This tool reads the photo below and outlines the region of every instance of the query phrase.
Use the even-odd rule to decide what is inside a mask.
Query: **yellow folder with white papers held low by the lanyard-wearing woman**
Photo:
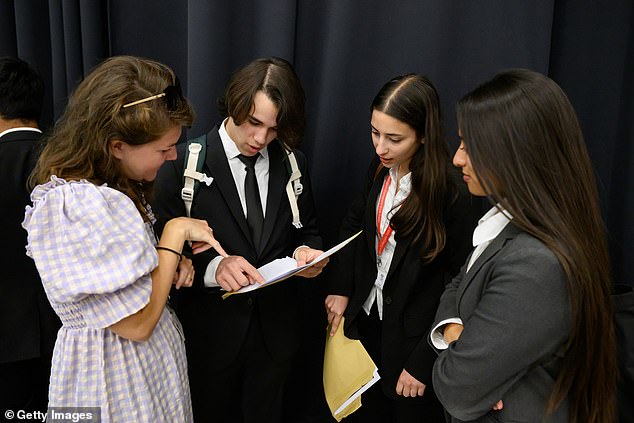
[[[345,337],[343,324],[342,318],[334,336],[327,329],[324,351],[324,393],[338,422],[361,407],[361,394],[380,379],[361,341]]]

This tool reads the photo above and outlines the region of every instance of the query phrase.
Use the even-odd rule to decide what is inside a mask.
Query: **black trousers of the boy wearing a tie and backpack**
[[[213,342],[213,341],[210,341]],[[218,342],[222,348],[222,342]],[[254,313],[238,357],[221,370],[206,363],[189,367],[195,422],[279,423],[291,361],[271,357]]]

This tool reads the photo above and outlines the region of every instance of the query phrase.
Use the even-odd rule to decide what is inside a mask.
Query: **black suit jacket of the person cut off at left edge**
[[[39,151],[40,134],[15,131],[0,138],[0,363],[53,351],[60,322],[44,293],[35,263],[25,253],[24,208],[31,204],[27,179]]]

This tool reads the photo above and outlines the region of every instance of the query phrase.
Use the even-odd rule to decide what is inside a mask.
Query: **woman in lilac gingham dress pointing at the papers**
[[[192,421],[182,330],[166,301],[172,283],[193,282],[185,241],[225,253],[207,222],[189,218],[167,222],[157,243],[145,201],[192,117],[169,68],[114,57],[82,81],[49,136],[23,223],[63,322],[49,408],[97,407],[102,422]]]

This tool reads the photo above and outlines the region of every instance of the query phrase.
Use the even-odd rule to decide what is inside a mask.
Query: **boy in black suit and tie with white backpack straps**
[[[212,182],[200,184],[191,216],[209,222],[230,256],[198,254],[194,288],[179,292],[196,421],[281,420],[283,387],[301,337],[297,282],[226,300],[220,288],[262,282],[256,268],[272,260],[291,256],[302,264],[321,253],[306,159],[294,150],[303,135],[304,102],[288,62],[255,60],[234,74],[221,99],[226,118],[206,136],[201,172]],[[186,147],[179,146],[179,158],[156,180],[153,205],[161,219],[186,214]],[[292,160],[302,177],[287,192]],[[300,275],[315,277],[325,264]]]

